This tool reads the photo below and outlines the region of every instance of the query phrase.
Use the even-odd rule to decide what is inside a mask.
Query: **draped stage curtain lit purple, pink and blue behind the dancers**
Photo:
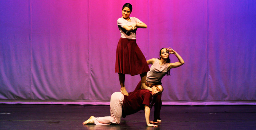
[[[148,25],[145,58],[172,47],[185,61],[162,79],[164,105],[256,105],[254,0],[1,0],[0,103],[109,104],[126,2]],[[125,78],[133,91],[140,76]]]

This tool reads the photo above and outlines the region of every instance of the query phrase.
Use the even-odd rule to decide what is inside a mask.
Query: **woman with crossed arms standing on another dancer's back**
[[[125,3],[122,8],[122,18],[117,20],[121,37],[116,49],[115,72],[119,76],[120,91],[126,96],[128,93],[124,86],[125,74],[131,76],[140,74],[141,87],[145,88],[146,74],[149,71],[147,61],[136,43],[137,28],[147,28],[147,25],[135,17],[130,17],[131,12],[132,5]]]

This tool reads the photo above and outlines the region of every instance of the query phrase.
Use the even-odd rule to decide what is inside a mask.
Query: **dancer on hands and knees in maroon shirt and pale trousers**
[[[107,125],[107,124],[119,124],[121,117],[125,118],[126,115],[136,113],[140,110],[145,111],[146,123],[148,126],[155,126],[153,122],[149,120],[150,107],[154,104],[152,99],[163,92],[161,85],[154,85],[152,91],[146,89],[140,89],[129,93],[129,96],[122,94],[121,92],[115,92],[111,95],[110,99],[110,115],[105,117],[91,116],[83,124],[95,124],[95,125]],[[154,96],[154,97],[153,97]],[[154,99],[153,99],[154,100]]]

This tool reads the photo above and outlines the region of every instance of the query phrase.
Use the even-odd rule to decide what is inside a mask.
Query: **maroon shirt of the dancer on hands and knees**
[[[122,117],[144,110],[145,105],[150,106],[152,97],[152,92],[146,89],[130,92],[129,96],[124,95]]]

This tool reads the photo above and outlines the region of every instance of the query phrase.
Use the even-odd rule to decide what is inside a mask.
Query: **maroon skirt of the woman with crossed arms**
[[[120,38],[116,49],[115,72],[133,76],[148,71],[149,66],[136,39]]]

